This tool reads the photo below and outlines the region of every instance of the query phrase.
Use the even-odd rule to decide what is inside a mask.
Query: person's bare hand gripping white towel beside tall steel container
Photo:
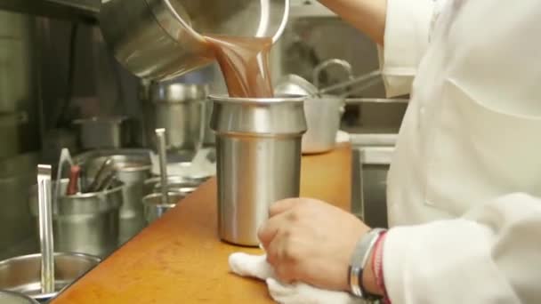
[[[296,281],[349,291],[348,267],[355,244],[369,228],[351,213],[308,198],[271,206],[259,231],[267,260],[282,282]]]

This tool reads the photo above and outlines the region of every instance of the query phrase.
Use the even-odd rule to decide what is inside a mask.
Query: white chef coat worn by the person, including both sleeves
[[[380,60],[393,303],[541,303],[541,1],[388,0]]]

